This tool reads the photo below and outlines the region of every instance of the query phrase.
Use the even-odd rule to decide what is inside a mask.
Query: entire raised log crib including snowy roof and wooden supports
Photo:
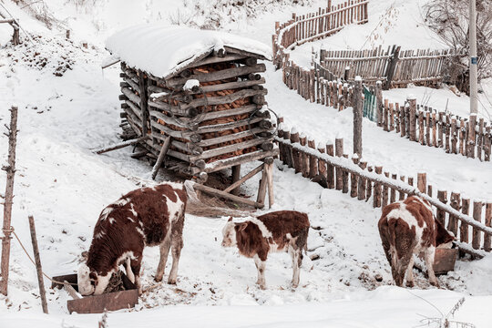
[[[161,166],[200,184],[210,173],[231,168],[229,188],[196,189],[261,208],[268,187],[272,203],[278,149],[261,77],[266,67],[259,62],[271,58],[268,46],[220,32],[150,24],[118,32],[107,48],[121,61],[122,137],[144,148],[142,156],[156,159],[154,179]],[[241,164],[253,160],[263,163],[241,178]],[[234,196],[261,171],[256,201]]]

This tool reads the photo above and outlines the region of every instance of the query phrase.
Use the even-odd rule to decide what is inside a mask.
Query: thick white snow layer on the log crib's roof
[[[224,46],[272,59],[272,49],[259,41],[229,33],[162,23],[125,28],[106,40],[106,48],[130,67],[168,77],[210,50]]]

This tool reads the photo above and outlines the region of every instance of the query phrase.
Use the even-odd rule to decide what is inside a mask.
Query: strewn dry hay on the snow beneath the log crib
[[[186,180],[184,183],[186,193],[188,194],[188,201],[186,205],[186,212],[188,214],[207,218],[217,218],[223,216],[244,218],[256,216],[252,211],[226,208],[224,207],[225,204],[216,198],[202,198],[202,200],[200,200],[193,187],[194,184],[195,182],[191,180]]]

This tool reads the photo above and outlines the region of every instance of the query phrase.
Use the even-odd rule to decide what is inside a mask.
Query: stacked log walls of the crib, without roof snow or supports
[[[259,74],[266,68],[251,54],[232,51],[211,53],[166,79],[122,63],[124,128],[148,136],[146,147],[156,156],[171,138],[174,168],[191,175],[241,164],[246,154],[251,160],[274,155]]]

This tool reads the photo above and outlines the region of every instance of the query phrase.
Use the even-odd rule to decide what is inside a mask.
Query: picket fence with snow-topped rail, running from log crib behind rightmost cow
[[[341,190],[358,200],[372,199],[374,208],[411,195],[422,197],[436,206],[436,219],[455,234],[462,251],[483,257],[486,251],[492,250],[492,202],[461,198],[460,193],[446,190],[437,190],[434,198],[433,187],[427,185],[425,173],[419,173],[415,181],[413,177],[398,177],[384,171],[382,166],[373,167],[357,155],[349,159],[343,152],[343,138],[336,138],[334,145],[331,142],[316,144],[314,139],[308,139],[294,128],[290,130],[281,125],[276,141],[280,160],[302,177],[324,188]],[[471,209],[470,205],[473,205]]]

